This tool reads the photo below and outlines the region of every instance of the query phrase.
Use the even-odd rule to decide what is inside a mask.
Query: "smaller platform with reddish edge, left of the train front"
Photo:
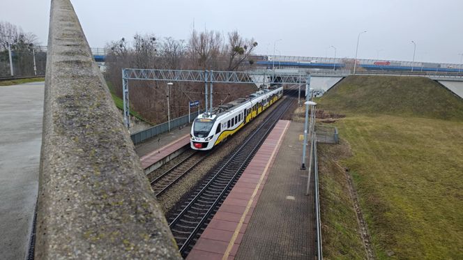
[[[148,174],[183,153],[188,148],[185,148],[188,144],[190,144],[190,125],[153,137],[137,145],[135,151],[140,157],[145,173]]]

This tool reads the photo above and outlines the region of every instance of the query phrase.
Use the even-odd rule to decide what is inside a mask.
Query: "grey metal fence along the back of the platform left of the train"
[[[200,113],[200,112],[199,112]],[[193,121],[196,116],[198,115],[198,112],[191,113],[191,121]],[[188,125],[188,114],[185,116],[180,116],[177,118],[174,118],[170,121],[170,129],[174,128],[179,128],[183,125]],[[155,137],[156,135],[160,135],[163,132],[168,132],[169,131],[169,122],[164,122],[160,123],[159,125],[155,125],[152,128],[148,128],[143,131],[135,132],[134,134],[130,135],[130,138],[132,138],[133,144],[139,144],[142,143],[150,138]]]

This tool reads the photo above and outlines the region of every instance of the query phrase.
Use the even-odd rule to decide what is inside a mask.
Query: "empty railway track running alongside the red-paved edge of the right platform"
[[[188,255],[206,224],[225,200],[273,126],[291,106],[291,102],[295,100],[293,98],[282,100],[282,103],[245,139],[241,146],[211,170],[195,194],[186,199],[179,213],[169,220],[169,227],[183,257]]]

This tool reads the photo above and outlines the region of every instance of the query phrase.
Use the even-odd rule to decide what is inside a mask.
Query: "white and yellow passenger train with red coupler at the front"
[[[212,109],[211,113],[199,114],[190,132],[191,148],[211,150],[273,105],[282,95],[282,86],[276,86],[252,93],[249,98],[238,98],[220,105]]]

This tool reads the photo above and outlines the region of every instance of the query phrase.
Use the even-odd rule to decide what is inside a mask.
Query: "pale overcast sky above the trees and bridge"
[[[36,33],[47,44],[49,0],[0,0],[0,20]],[[135,32],[187,39],[197,30],[238,30],[259,43],[258,54],[460,63],[462,0],[193,1],[73,0],[91,47]]]

